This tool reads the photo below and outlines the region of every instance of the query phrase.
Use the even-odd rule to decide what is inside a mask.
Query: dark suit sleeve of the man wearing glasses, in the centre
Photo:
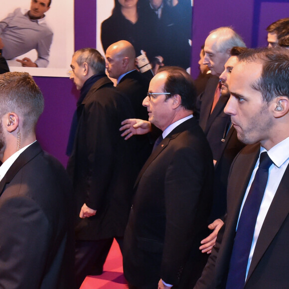
[[[161,278],[168,284],[177,285],[200,227],[206,228],[206,224],[199,224],[196,220],[200,216],[199,200],[203,198],[201,194],[209,173],[207,167],[210,163],[206,164],[202,153],[183,147],[174,152],[166,173],[166,227]]]

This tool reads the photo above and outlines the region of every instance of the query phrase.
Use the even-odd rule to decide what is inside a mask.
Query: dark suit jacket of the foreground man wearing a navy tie
[[[246,146],[235,158],[228,182],[228,214],[196,289],[225,288],[242,201],[260,152]],[[271,203],[254,250],[245,289],[288,288],[289,167]]]

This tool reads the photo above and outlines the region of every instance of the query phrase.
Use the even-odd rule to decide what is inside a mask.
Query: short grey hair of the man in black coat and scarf
[[[76,56],[78,65],[86,62],[95,74],[105,73],[105,59],[98,50],[94,48],[82,48],[75,51],[73,56]]]

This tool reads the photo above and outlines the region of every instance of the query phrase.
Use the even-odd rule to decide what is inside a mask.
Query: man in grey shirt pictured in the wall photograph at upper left
[[[32,49],[37,59],[17,59],[24,67],[47,67],[53,32],[45,21],[51,0],[31,0],[30,10],[16,8],[0,21],[0,49],[5,59],[12,59]]]

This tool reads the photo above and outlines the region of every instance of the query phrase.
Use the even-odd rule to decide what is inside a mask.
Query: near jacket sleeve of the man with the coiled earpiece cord
[[[48,220],[32,199],[13,197],[1,203],[0,288],[39,288],[50,235]]]

